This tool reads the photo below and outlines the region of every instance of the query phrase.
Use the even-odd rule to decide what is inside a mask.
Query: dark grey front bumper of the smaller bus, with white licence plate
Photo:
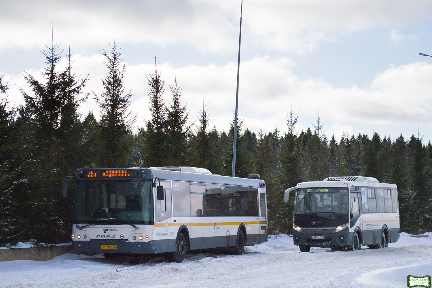
[[[324,236],[324,239],[314,239]],[[292,230],[292,238],[294,240],[294,245],[308,245],[311,247],[332,247],[332,246],[348,246],[350,245],[349,231],[344,229],[339,232],[334,232],[330,234],[307,234],[300,233],[296,230]]]

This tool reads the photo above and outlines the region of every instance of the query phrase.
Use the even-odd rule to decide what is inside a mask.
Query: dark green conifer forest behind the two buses
[[[143,75],[151,118],[133,133],[137,116],[126,112],[132,91],[124,86],[118,44],[101,51],[106,76],[99,94],[83,93],[89,75],[73,72],[70,53],[66,69],[58,69],[59,51],[54,44],[42,50],[43,81],[25,73],[31,92],[20,89],[24,100],[18,107],[8,108],[10,83],[0,75],[1,246],[69,242],[74,185],[66,198],[60,189],[63,177],[79,168],[193,166],[231,176],[234,117],[229,130],[212,126],[205,106],[199,119],[189,119],[181,83],[167,85],[155,64]],[[88,98],[96,99],[100,119],[77,112]],[[360,133],[335,139],[323,133],[319,113],[306,131],[296,126],[298,111],[287,107],[286,113],[286,133],[275,128],[256,134],[242,127],[241,117],[238,123],[235,176],[260,174],[265,180],[269,234],[292,233],[293,195],[288,204],[283,201],[287,188],[355,175],[397,184],[401,232],[432,231],[432,144],[419,129],[396,138]]]

